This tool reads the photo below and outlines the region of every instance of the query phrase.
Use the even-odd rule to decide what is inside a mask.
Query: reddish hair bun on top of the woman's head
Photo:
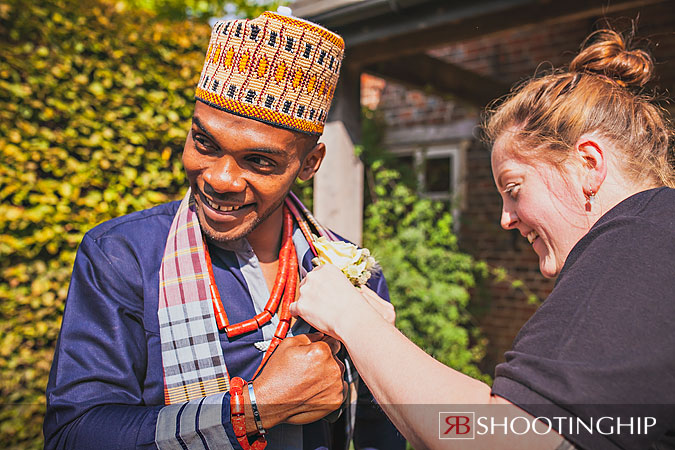
[[[604,75],[622,86],[644,86],[652,77],[651,56],[644,50],[628,49],[616,31],[595,31],[581,48],[570,64],[570,72]]]

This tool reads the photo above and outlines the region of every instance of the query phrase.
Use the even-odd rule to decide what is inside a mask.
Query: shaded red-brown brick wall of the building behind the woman
[[[652,87],[675,92],[675,33],[672,31],[675,8],[665,3],[640,11],[625,11],[611,20],[619,30],[627,30],[630,19],[638,13],[638,35],[652,42],[650,49],[657,60],[657,79]],[[602,23],[598,19],[584,19],[533,26],[461,42],[429,54],[513,84],[532,76],[536,70],[568,64],[585,36]],[[382,111],[388,127],[399,132],[422,125],[451,127],[467,118],[478,122],[481,112],[451,98],[426,95],[369,75],[362,78],[362,98],[367,106]],[[492,266],[506,268],[544,299],[554,281],[539,273],[536,254],[517,231],[501,229],[501,200],[494,187],[489,153],[475,137],[471,139],[465,173],[467,196],[459,231],[461,245]],[[492,283],[487,287],[487,295],[477,291],[473,301],[476,310],[482,310],[478,319],[490,342],[483,368],[491,372],[496,363],[503,361],[504,352],[511,347],[518,330],[536,306],[529,304],[527,295],[512,289],[508,282]]]

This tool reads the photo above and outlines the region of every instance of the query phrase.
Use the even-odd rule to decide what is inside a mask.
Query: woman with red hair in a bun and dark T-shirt
[[[438,414],[453,410],[509,425],[483,422],[470,448],[675,442],[673,139],[643,93],[652,70],[646,52],[600,30],[568,70],[522,84],[490,113],[501,225],[530,242],[544,276],[557,277],[492,387],[426,355],[393,326],[389,304],[336,269],[322,266],[305,280],[294,313],[344,343],[416,448],[442,447],[439,434],[468,426],[467,418],[439,429]]]

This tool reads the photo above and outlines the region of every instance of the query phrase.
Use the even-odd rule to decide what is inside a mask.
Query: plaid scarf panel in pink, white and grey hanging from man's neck
[[[230,378],[213,314],[202,231],[189,189],[166,240],[157,315],[165,404],[228,391]]]

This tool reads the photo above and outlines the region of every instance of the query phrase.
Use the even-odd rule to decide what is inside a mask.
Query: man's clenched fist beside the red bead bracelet
[[[344,364],[335,357],[340,346],[323,333],[289,337],[279,344],[253,382],[265,428],[315,422],[342,405],[347,383]]]

